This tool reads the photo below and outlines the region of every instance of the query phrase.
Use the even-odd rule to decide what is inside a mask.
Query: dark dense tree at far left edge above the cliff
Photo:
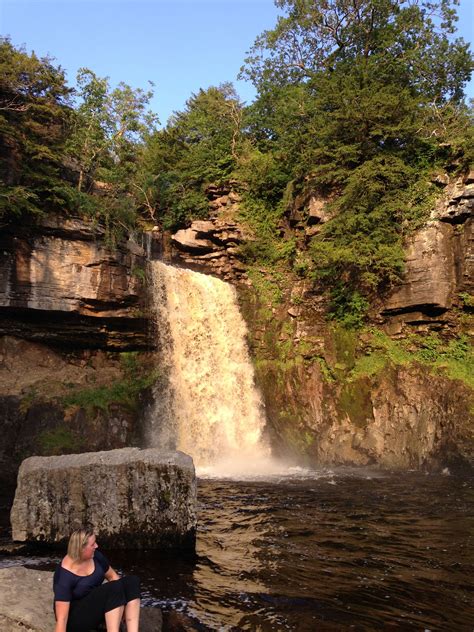
[[[61,176],[71,89],[50,58],[0,41],[0,217],[41,214],[70,203]]]

